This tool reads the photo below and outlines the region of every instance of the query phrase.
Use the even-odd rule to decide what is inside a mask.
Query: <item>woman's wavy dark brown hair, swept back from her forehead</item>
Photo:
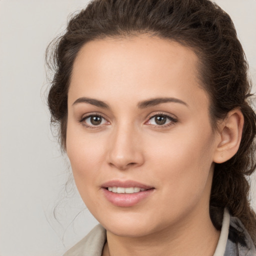
[[[215,164],[210,215],[220,228],[218,209],[227,207],[256,243],[256,216],[250,208],[246,179],[255,168],[256,117],[247,102],[251,84],[247,62],[227,13],[209,0],[93,0],[68,22],[64,35],[53,42],[54,77],[48,94],[52,123],[59,124],[65,148],[67,91],[72,65],[82,45],[105,37],[150,33],[192,48],[199,58],[200,80],[210,96],[213,128],[228,111],[239,108],[244,116],[237,153]]]

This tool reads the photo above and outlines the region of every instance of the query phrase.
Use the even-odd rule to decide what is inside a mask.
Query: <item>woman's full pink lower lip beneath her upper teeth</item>
[[[137,193],[113,193],[105,188],[102,188],[106,199],[112,204],[119,207],[130,207],[148,197],[152,192],[153,188]]]

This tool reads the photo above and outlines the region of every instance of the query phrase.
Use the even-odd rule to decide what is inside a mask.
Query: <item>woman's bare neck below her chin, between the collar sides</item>
[[[107,231],[102,255],[212,256],[220,232],[213,226],[208,212],[194,212],[178,224],[140,237],[117,236]]]

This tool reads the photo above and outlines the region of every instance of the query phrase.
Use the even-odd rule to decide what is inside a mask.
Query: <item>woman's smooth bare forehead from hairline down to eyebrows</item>
[[[197,64],[190,48],[155,36],[90,41],[74,61],[68,97],[75,100],[81,93],[103,100],[106,95],[116,100],[127,93],[133,100],[166,93],[192,96],[202,93]]]

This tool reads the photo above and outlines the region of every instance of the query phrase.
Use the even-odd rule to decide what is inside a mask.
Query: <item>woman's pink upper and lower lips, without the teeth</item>
[[[147,189],[145,191],[139,191],[137,193],[113,193],[107,190],[109,186],[120,186],[120,187],[140,187]],[[154,187],[142,184],[133,180],[111,180],[101,185],[101,190],[105,198],[115,206],[119,207],[131,207],[144,199],[154,191]]]

